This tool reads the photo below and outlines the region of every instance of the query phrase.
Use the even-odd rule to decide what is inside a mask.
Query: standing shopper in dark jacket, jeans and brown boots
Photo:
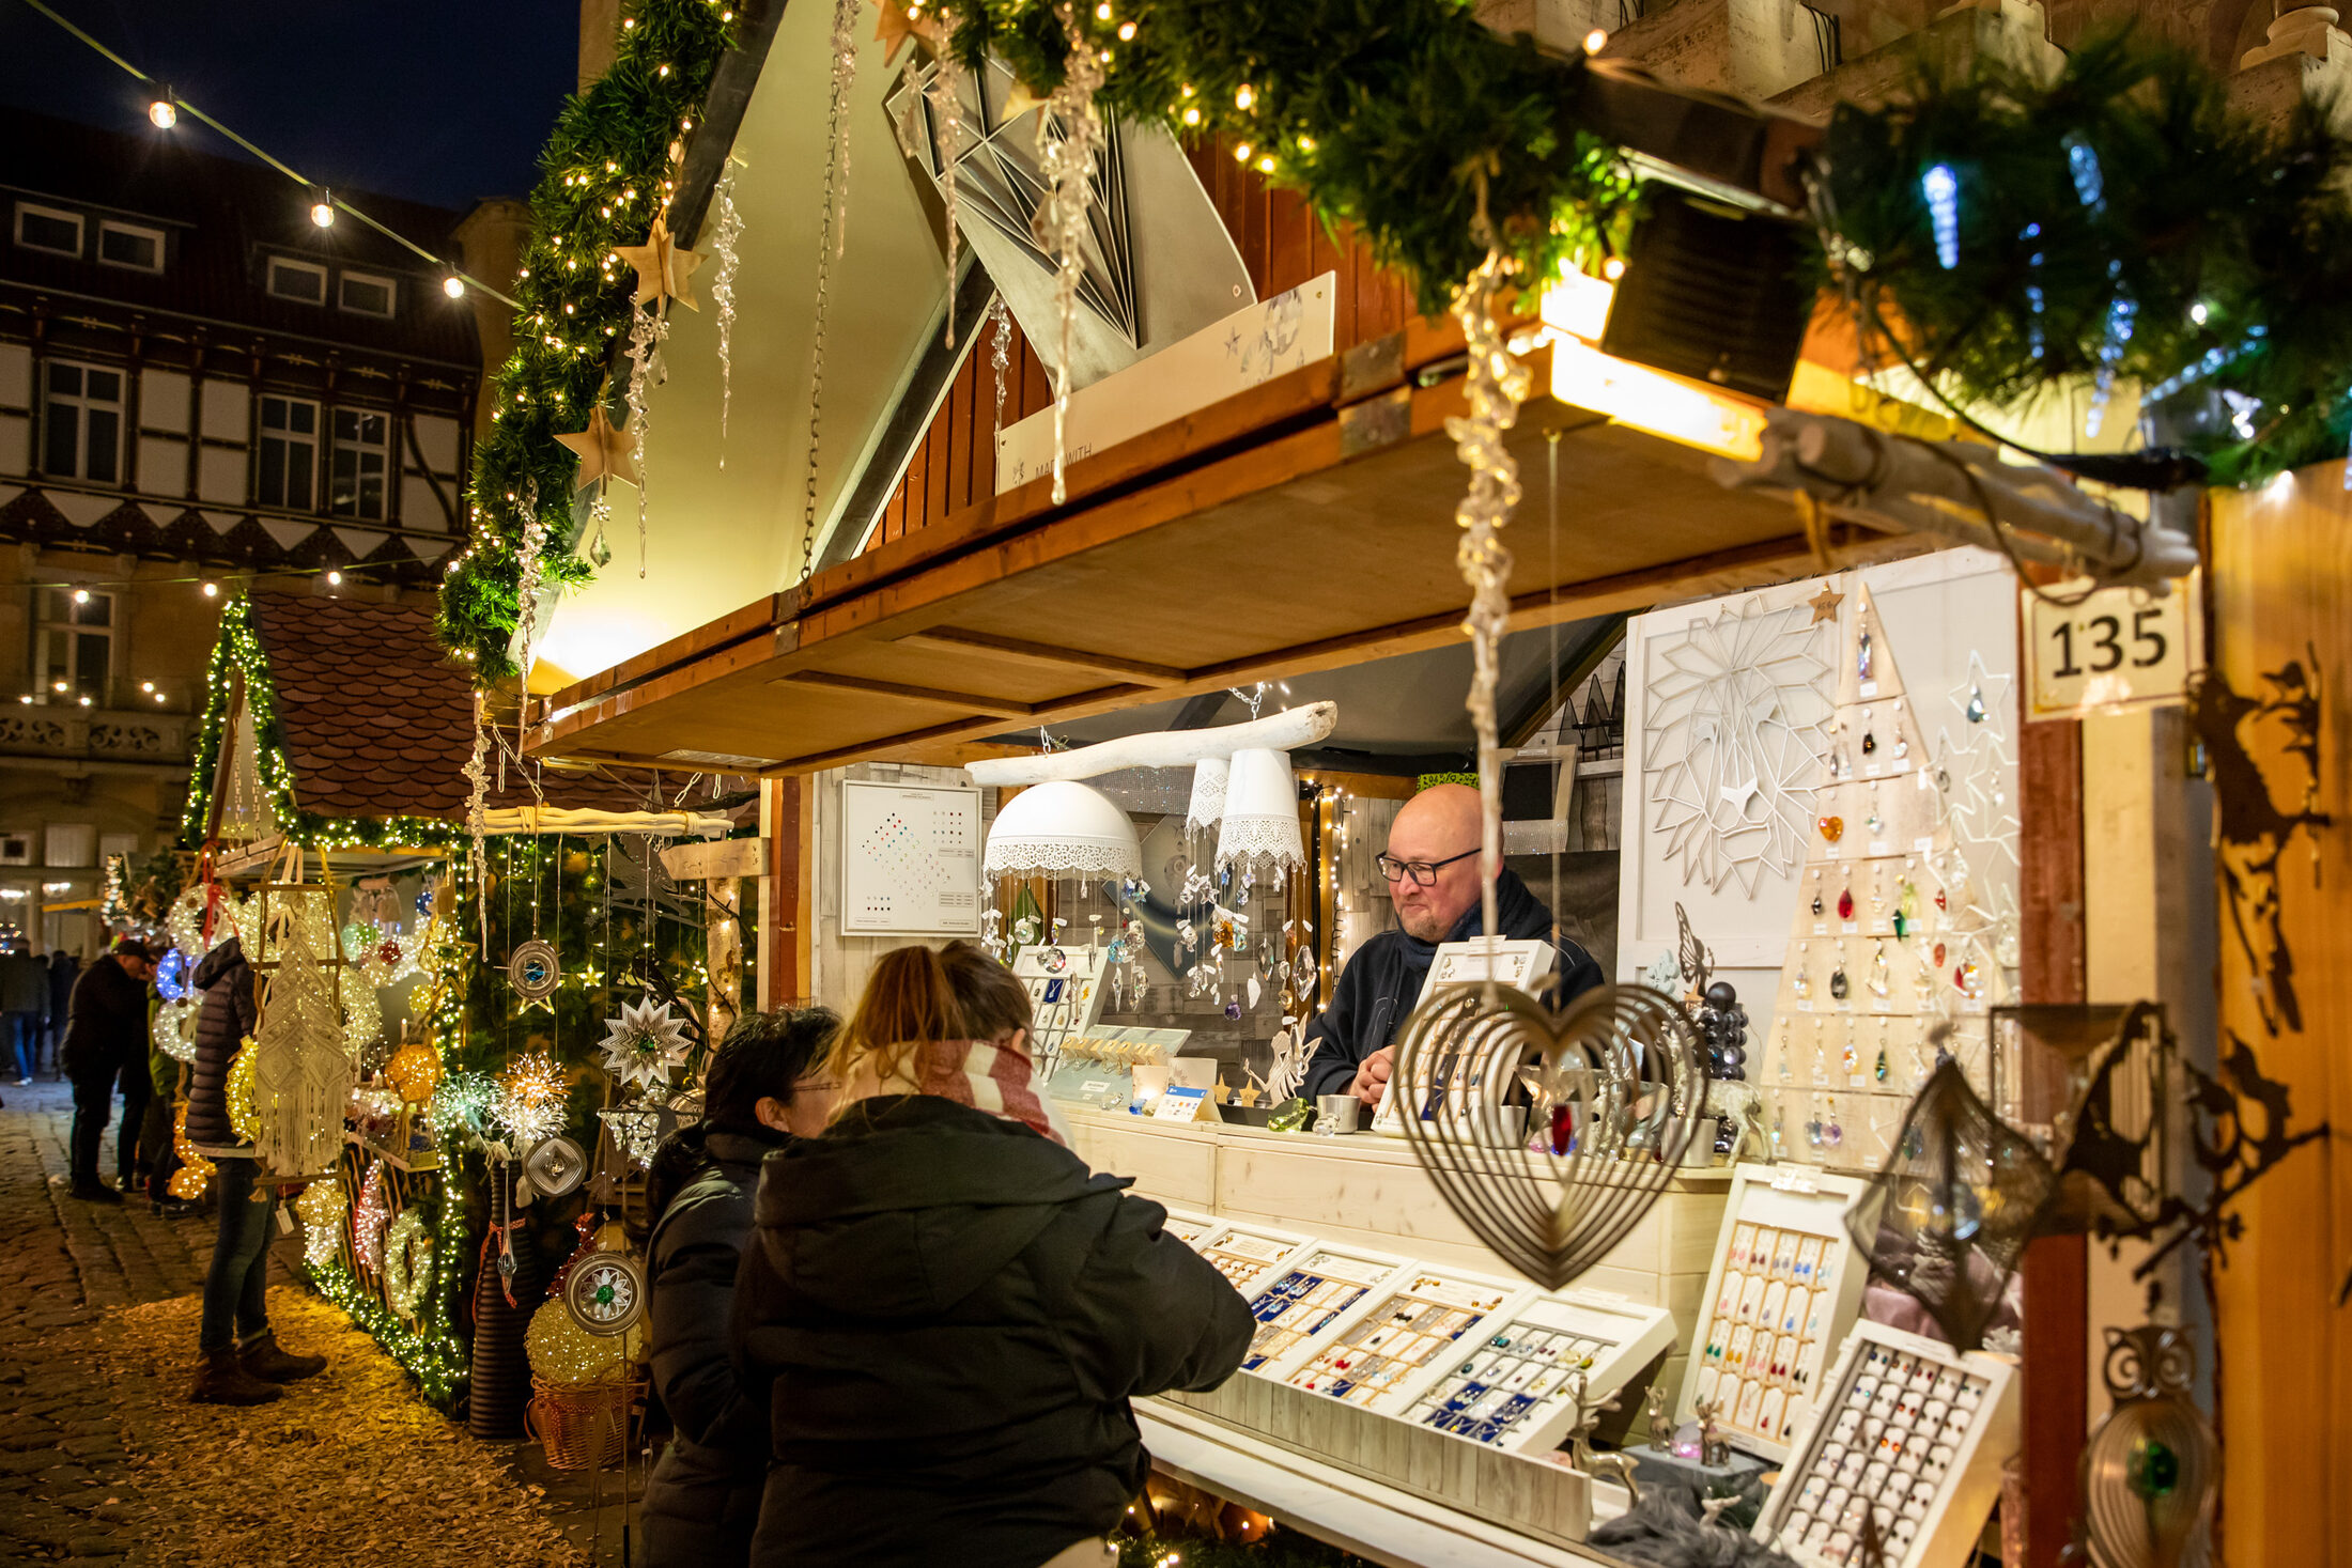
[[[228,1119],[228,1063],[259,1023],[254,966],[235,936],[205,954],[193,985],[205,992],[188,1065],[188,1147],[214,1161],[221,1229],[205,1274],[205,1316],[195,1349],[195,1403],[259,1406],[273,1385],[327,1371],[327,1356],[289,1356],[270,1333],[270,1220],[278,1187],[261,1180],[254,1145]]]

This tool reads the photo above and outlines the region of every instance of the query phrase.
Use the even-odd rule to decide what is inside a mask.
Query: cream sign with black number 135
[[[2119,708],[2157,708],[2187,696],[2204,668],[2199,578],[2173,583],[2161,599],[2145,588],[2100,588],[2067,604],[2089,583],[2030,588],[2025,604],[2025,717],[2074,719]]]

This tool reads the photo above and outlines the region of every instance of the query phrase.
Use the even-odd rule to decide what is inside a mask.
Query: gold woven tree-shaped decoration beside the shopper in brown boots
[[[353,1084],[336,964],[320,959],[313,929],[332,933],[334,903],[315,886],[270,891],[280,898],[268,900],[268,973],[254,1027],[254,1152],[278,1175],[325,1175],[343,1152]],[[327,910],[325,919],[313,903]]]

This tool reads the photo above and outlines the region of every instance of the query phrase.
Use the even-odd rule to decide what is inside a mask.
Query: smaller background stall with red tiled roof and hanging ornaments
[[[240,936],[261,1023],[230,1105],[306,1182],[310,1281],[426,1399],[485,1436],[532,1403],[579,1465],[614,1441],[590,1415],[642,1392],[642,1168],[746,978],[724,884],[666,856],[734,832],[736,802],[513,759],[430,623],[329,595],[223,611],[155,1037],[186,1060],[183,976]]]

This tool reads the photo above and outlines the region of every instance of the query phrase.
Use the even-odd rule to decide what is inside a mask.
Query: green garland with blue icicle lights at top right
[[[1825,153],[1823,275],[1959,402],[2105,371],[2206,414],[2180,444],[2218,482],[2345,456],[2352,143],[2324,106],[2256,125],[2201,63],[2110,33],[2051,78],[1922,56],[1903,101],[1839,106]],[[1936,169],[1957,186],[1952,266]],[[2223,390],[2251,400],[2237,428],[2211,416]]]

